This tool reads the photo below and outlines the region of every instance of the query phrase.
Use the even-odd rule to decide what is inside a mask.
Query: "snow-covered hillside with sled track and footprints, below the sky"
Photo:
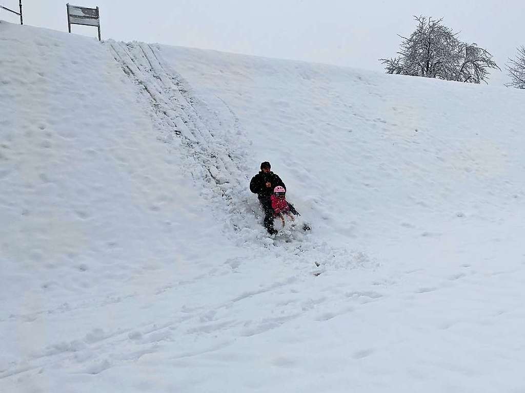
[[[0,37],[0,391],[525,389],[522,91]]]

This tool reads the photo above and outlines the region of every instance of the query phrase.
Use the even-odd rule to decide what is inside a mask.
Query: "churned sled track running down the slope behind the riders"
[[[233,151],[228,144],[232,134],[238,138],[238,120],[232,111],[227,108],[234,117],[232,127],[225,127],[218,118],[212,119],[216,126],[208,124],[209,119],[199,115],[197,100],[188,92],[180,75],[166,70],[153,46],[142,42],[115,41],[109,41],[109,45],[124,72],[149,95],[156,116],[154,121],[162,133],[160,138],[166,142],[173,139],[173,135],[182,138],[188,157],[198,163],[197,167],[202,172],[195,173],[194,162],[188,162],[185,169],[192,173],[194,179],[206,180],[208,198],[226,201],[227,213],[235,231],[246,227],[243,215],[249,209],[247,203],[240,202],[243,197],[248,198],[245,190],[248,179],[239,169],[239,161],[234,159],[242,154]],[[199,105],[204,106],[200,102]],[[228,133],[230,135],[226,135]],[[241,184],[241,180],[246,184]]]

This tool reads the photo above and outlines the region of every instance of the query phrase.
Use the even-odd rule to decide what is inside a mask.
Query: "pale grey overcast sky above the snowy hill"
[[[18,0],[0,0],[18,8]],[[72,0],[100,7],[102,38],[140,40],[258,56],[349,65],[382,71],[377,59],[395,56],[413,15],[444,17],[459,38],[505,62],[525,45],[525,0]],[[28,25],[67,31],[66,1],[23,0]],[[0,19],[16,15],[0,10]],[[72,26],[96,37],[96,28]]]

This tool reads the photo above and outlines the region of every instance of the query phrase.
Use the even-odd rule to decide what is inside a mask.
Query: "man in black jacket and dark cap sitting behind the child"
[[[270,170],[271,166],[268,161],[261,163],[261,171],[257,173],[250,181],[250,191],[257,194],[257,198],[264,210],[264,227],[269,234],[277,233],[274,228],[274,210],[271,208],[270,196],[274,192],[274,188],[278,185],[286,190],[285,183],[281,178]]]

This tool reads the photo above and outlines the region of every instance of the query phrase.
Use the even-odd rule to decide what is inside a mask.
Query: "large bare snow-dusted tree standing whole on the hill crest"
[[[492,55],[475,43],[461,42],[443,19],[415,17],[417,27],[403,37],[396,58],[380,59],[389,74],[438,78],[468,83],[486,82],[489,69],[499,69]]]

